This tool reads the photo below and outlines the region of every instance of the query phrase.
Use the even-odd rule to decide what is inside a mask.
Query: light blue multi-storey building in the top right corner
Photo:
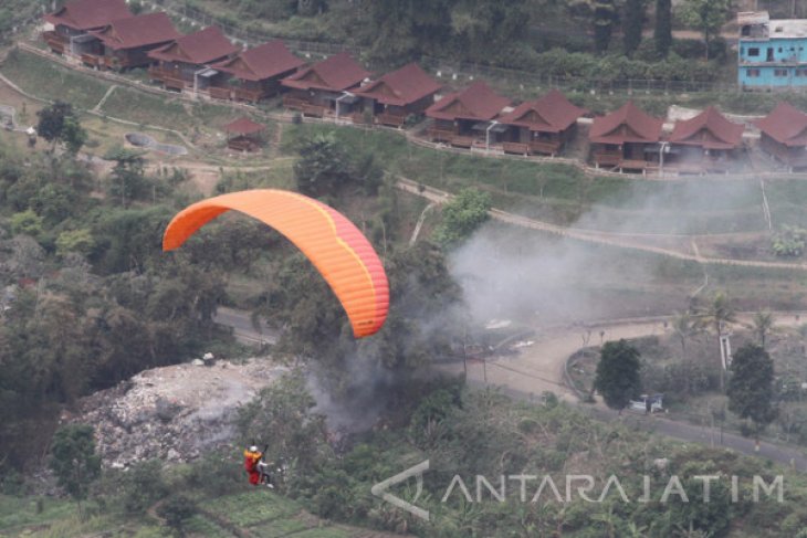
[[[807,20],[742,12],[737,82],[748,89],[807,87]]]

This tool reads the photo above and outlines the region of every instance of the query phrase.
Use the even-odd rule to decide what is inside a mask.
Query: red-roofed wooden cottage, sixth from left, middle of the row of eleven
[[[363,109],[379,125],[401,127],[409,115],[422,115],[434,103],[441,84],[410,63],[357,89]]]

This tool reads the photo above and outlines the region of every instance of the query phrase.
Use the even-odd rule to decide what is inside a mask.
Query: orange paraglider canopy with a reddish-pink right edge
[[[163,250],[179,247],[230,210],[277,230],[311,260],[345,308],[356,338],[381,328],[389,308],[389,286],[373,245],[342,213],[303,194],[259,189],[202,200],[174,217],[163,236]]]

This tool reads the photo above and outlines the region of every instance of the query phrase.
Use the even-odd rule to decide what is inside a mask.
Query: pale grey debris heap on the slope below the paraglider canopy
[[[143,371],[83,399],[80,412],[63,421],[93,425],[97,452],[109,467],[193,460],[227,445],[238,407],[285,371],[269,360],[211,358]]]

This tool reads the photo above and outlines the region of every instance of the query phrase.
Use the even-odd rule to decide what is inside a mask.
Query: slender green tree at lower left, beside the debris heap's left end
[[[87,497],[90,485],[101,476],[101,457],[95,454],[93,428],[69,424],[56,430],[49,465],[59,486],[75,499],[82,516],[81,502]]]

